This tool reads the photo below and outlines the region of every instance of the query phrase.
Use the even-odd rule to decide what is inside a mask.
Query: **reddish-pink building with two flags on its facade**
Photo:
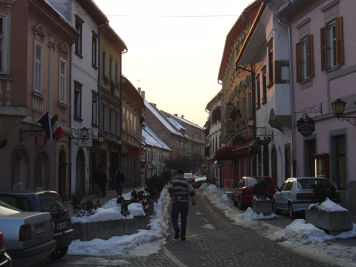
[[[0,20],[0,190],[56,190],[66,197],[70,46],[78,32],[45,0],[0,0]],[[40,136],[45,132],[36,122],[46,112],[59,115],[67,138]]]

